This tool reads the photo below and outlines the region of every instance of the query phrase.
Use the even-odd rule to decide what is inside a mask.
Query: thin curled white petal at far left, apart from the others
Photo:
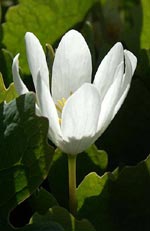
[[[19,95],[26,94],[29,92],[23,81],[21,80],[21,77],[19,75],[19,54],[15,56],[13,59],[12,64],[12,74],[13,74],[13,81],[16,88],[16,91]]]

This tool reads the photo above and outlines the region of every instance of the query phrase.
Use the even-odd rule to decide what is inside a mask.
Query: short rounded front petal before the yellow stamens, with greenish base
[[[77,154],[92,144],[100,113],[100,95],[92,84],[85,83],[66,102],[61,130],[68,141],[63,151]]]

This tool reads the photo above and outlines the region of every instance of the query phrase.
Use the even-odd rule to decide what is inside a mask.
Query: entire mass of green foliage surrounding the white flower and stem
[[[32,224],[23,223],[18,231],[94,231],[92,225],[97,231],[150,230],[150,157],[136,165],[150,150],[149,8],[149,0],[2,1],[0,230],[16,230],[8,222],[9,214],[26,198],[34,216]],[[108,155],[92,145],[77,157],[77,219],[66,210],[67,156],[60,150],[53,156],[46,141],[48,121],[35,115],[35,96],[27,94],[14,100],[17,93],[11,83],[12,58],[19,52],[23,80],[33,89],[25,55],[26,31],[35,33],[43,47],[47,43],[56,47],[71,28],[81,31],[88,42],[93,74],[117,41],[138,58],[128,97],[97,141]],[[49,44],[46,58],[51,78],[54,54]],[[134,166],[109,172],[128,164]]]

